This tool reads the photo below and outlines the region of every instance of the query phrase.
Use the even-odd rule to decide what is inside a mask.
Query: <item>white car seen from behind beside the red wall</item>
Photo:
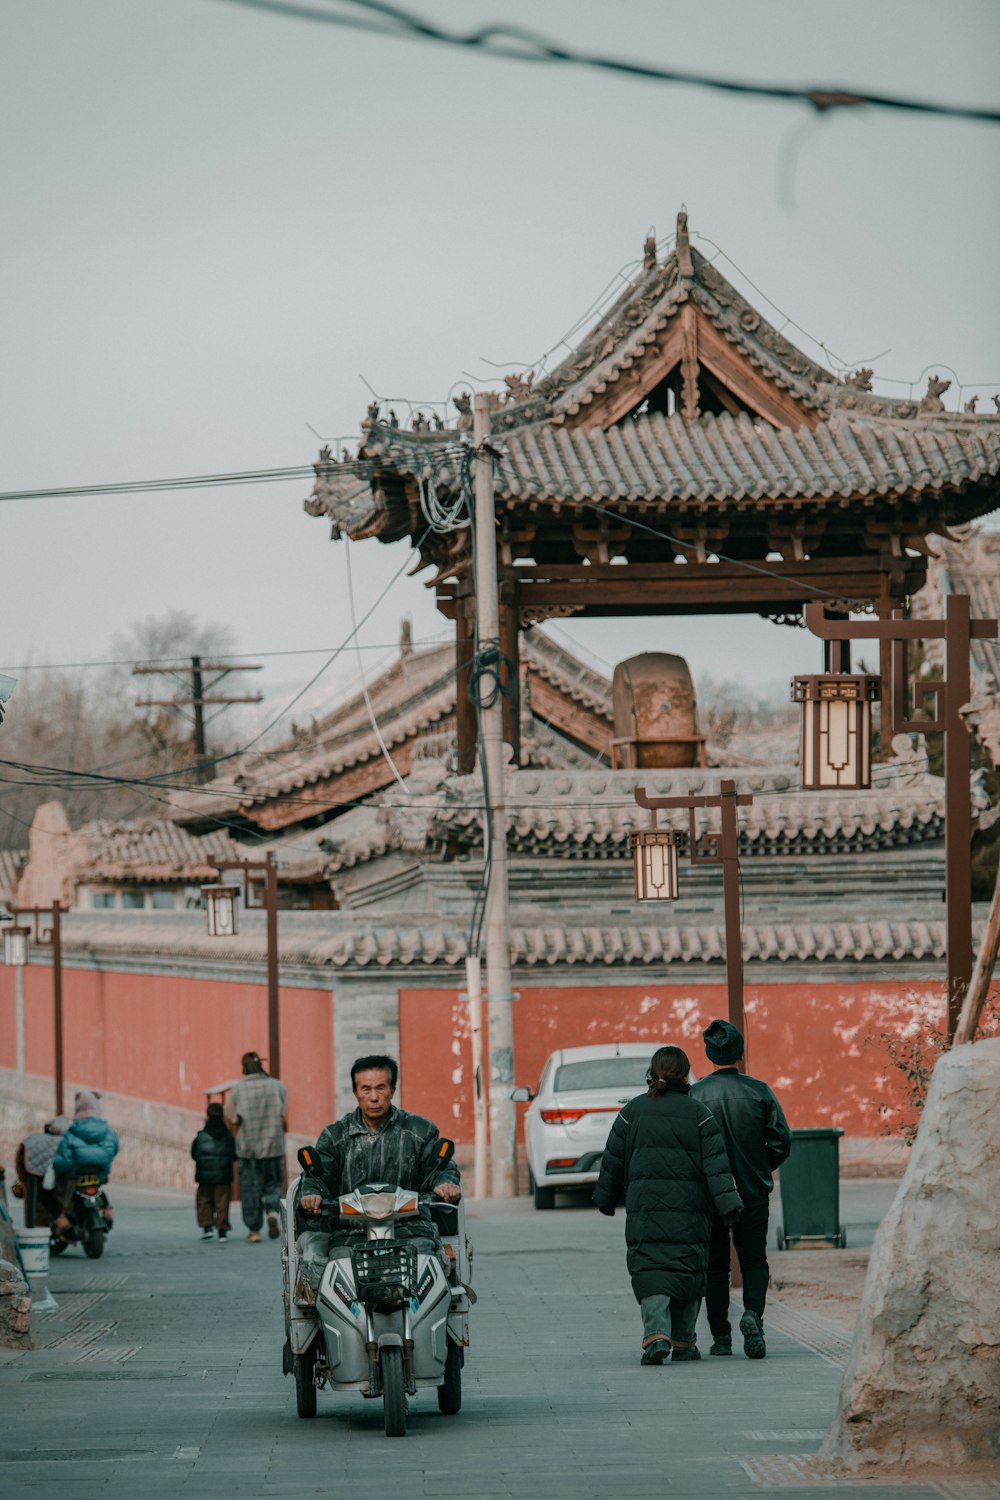
[[[538,1089],[514,1089],[531,1101],[525,1113],[525,1146],[537,1209],[552,1209],[556,1188],[597,1182],[615,1116],[646,1088],[657,1042],[603,1042],[553,1052]]]

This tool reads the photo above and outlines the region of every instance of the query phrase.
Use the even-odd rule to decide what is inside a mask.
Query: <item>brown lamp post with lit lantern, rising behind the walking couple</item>
[[[649,796],[643,788],[636,788],[636,801],[654,814],[652,828],[636,828],[630,843],[636,861],[636,900],[676,902],[678,850],[672,830],[657,828],[657,810],[661,807],[684,807],[690,816],[691,864],[721,864],[723,906],[726,914],[726,984],[729,992],[729,1020],[744,1034],[744,940],[739,926],[739,824],[738,807],[753,802],[750,794],[736,794],[736,783],[718,783],[718,796]],[[721,813],[720,832],[700,834],[694,814],[700,807],[718,807]]]

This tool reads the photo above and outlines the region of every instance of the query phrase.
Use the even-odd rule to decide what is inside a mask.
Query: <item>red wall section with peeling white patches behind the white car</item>
[[[880,1104],[900,1089],[885,1077],[877,1032],[940,1026],[942,986],[756,984],[745,993],[748,1071],[766,1078],[795,1128],[841,1125],[880,1136]],[[534,1088],[558,1047],[649,1041],[685,1048],[696,1074],[711,1071],[702,1030],[726,1014],[720,986],[597,986],[522,990],[514,1002],[516,1083]],[[459,1142],[472,1138],[471,1042],[456,990],[400,990],[400,1066],[406,1108],[436,1120]],[[865,1040],[871,1038],[868,1044]],[[523,1110],[522,1110],[523,1113]]]

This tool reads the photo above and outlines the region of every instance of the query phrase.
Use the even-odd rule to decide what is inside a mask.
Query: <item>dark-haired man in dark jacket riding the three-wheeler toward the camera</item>
[[[319,1164],[312,1174],[303,1174],[298,1185],[298,1212],[309,1221],[330,1214],[336,1200],[367,1182],[391,1182],[415,1192],[433,1192],[445,1203],[462,1197],[459,1168],[453,1161],[441,1166],[438,1126],[421,1114],[409,1114],[393,1104],[399,1064],[394,1058],[373,1054],[358,1058],[351,1068],[351,1086],[357,1108],[321,1132],[316,1142]],[[324,1210],[325,1200],[325,1210]],[[334,1210],[336,1212],[336,1210]],[[316,1282],[327,1262],[330,1246],[352,1238],[354,1226],[336,1222],[333,1234],[318,1228],[300,1239],[303,1269],[307,1281]],[[441,1239],[429,1209],[402,1220],[396,1227],[399,1239],[429,1242],[441,1248]]]

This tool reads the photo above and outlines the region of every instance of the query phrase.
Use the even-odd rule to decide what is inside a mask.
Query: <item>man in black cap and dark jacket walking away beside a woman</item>
[[[747,1359],[763,1359],[768,1353],[763,1314],[768,1294],[768,1198],[774,1188],[771,1173],[792,1150],[792,1131],[768,1084],[739,1071],[744,1038],[736,1026],[712,1022],[702,1038],[715,1072],[700,1078],[691,1092],[711,1108],[723,1131],[729,1166],[744,1200],[744,1212],[736,1222],[726,1224],[717,1218],[712,1224],[705,1294],[712,1330],[709,1354],[733,1352],[729,1322],[732,1234],[744,1278],[744,1316],[739,1320],[744,1353]]]

